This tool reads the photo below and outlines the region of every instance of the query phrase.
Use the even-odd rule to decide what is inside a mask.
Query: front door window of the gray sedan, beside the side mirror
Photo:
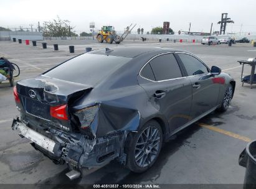
[[[187,70],[187,75],[189,76],[209,72],[207,67],[202,62],[191,55],[179,53],[179,58],[181,58],[181,61]]]

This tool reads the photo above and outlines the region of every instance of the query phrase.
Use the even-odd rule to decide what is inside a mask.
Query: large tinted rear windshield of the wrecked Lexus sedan
[[[60,80],[95,85],[131,58],[85,53],[60,64],[43,75]]]

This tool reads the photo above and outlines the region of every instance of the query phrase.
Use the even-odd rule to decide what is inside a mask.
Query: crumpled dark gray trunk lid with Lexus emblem
[[[25,113],[53,121],[51,106],[72,105],[75,99],[87,94],[93,86],[38,76],[17,82],[17,93]]]

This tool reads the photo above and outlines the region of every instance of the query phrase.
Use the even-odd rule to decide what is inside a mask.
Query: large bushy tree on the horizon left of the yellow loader
[[[42,30],[44,37],[77,37],[78,35],[75,34],[75,31],[72,32],[74,28],[70,25],[70,21],[62,20],[57,16],[57,19],[53,21],[44,22]]]

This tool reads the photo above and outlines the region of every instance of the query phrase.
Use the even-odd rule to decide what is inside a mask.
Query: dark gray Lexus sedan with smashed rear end
[[[183,50],[106,48],[18,81],[12,129],[66,163],[70,179],[113,159],[144,172],[170,136],[226,111],[234,90],[229,74]]]

